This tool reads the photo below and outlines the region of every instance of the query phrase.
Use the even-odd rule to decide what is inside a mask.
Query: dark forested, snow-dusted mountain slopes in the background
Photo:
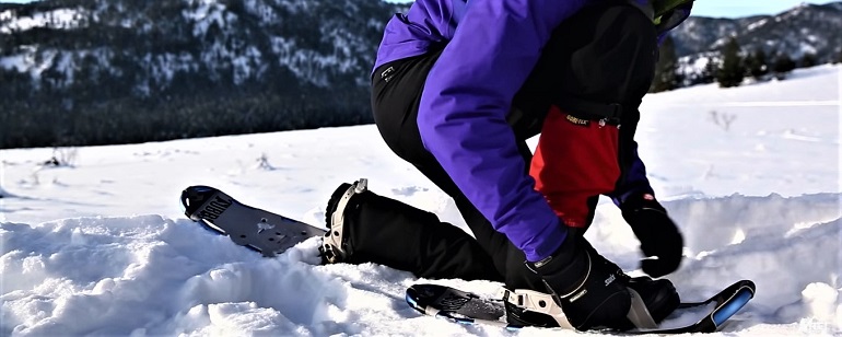
[[[0,0],[2,1],[2,0]],[[378,0],[44,0],[0,4],[0,148],[139,142],[371,123]],[[735,35],[819,62],[842,53],[842,2],[692,16],[679,56]]]

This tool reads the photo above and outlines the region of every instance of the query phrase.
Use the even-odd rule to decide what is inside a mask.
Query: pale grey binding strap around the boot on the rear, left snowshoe
[[[353,254],[348,220],[353,219],[359,210],[359,201],[354,197],[366,190],[367,183],[362,178],[353,184],[342,184],[330,196],[325,210],[328,231],[318,248],[323,265],[346,263]]]

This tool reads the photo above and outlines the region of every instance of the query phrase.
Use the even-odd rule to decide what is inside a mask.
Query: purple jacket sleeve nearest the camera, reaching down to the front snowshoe
[[[535,191],[505,117],[552,30],[585,2],[469,1],[430,71],[419,106],[425,148],[531,262],[552,254],[566,231]]]

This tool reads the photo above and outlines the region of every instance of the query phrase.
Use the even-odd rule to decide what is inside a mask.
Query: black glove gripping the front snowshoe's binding
[[[625,316],[631,295],[622,270],[597,254],[584,237],[568,235],[552,256],[526,266],[543,279],[575,328],[630,327]]]

